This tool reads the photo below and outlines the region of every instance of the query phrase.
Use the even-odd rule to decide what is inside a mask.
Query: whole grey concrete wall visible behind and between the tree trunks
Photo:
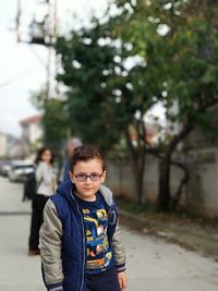
[[[185,159],[190,169],[190,181],[184,189],[181,204],[193,214],[218,217],[218,148],[189,151]],[[146,158],[143,201],[155,203],[158,195],[158,160]],[[171,192],[178,189],[183,172],[177,167],[171,168]],[[123,195],[130,199],[136,198],[134,179],[129,160],[113,160],[107,162],[106,184],[116,195]]]

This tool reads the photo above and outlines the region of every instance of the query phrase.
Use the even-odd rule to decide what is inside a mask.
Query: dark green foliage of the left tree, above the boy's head
[[[94,21],[94,28],[59,38],[57,52],[64,71],[58,80],[68,86],[70,121],[84,142],[99,144],[106,149],[119,137],[116,129],[111,130],[114,117],[111,105],[107,104],[110,95],[106,88],[114,70],[116,49],[110,45],[100,46],[101,37],[104,32]]]

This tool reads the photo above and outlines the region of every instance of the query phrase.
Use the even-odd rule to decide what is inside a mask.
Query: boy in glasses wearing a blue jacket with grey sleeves
[[[71,181],[48,201],[40,229],[43,274],[49,291],[120,291],[126,287],[118,209],[105,162],[94,146],[77,147]]]

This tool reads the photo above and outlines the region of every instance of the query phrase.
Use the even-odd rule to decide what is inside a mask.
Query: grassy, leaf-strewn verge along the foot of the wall
[[[218,219],[197,217],[184,211],[159,213],[154,205],[118,199],[121,222],[144,234],[159,237],[186,250],[218,262]]]

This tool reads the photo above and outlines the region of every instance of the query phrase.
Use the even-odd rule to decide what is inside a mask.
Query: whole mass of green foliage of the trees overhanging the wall
[[[58,39],[63,69],[58,80],[68,87],[70,124],[84,142],[110,150],[123,136],[128,138],[130,125],[134,128],[136,143],[126,145],[138,177],[147,146],[144,116],[155,104],[162,104],[169,121],[183,124],[181,132],[161,141],[158,149],[167,162],[195,126],[211,125],[208,109],[218,102],[218,3],[114,3],[117,14],[109,7],[105,22],[94,19],[90,28]],[[178,111],[172,110],[175,102]]]

